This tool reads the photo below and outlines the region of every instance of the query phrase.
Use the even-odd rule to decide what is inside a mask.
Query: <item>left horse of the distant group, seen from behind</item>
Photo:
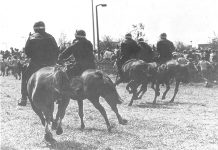
[[[155,78],[153,78],[155,69],[156,63],[146,63],[139,59],[130,59],[122,65],[124,82],[127,83],[126,90],[132,94],[129,106],[132,105],[133,100],[142,98],[147,91],[147,84],[149,82],[155,82]],[[141,88],[137,90],[139,86]],[[154,84],[151,87],[154,89]]]

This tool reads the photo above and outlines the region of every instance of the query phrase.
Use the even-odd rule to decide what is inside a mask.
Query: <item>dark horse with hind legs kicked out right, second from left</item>
[[[99,98],[103,97],[115,112],[120,124],[125,125],[127,120],[123,119],[118,112],[117,104],[121,104],[121,98],[117,93],[116,87],[107,74],[100,70],[88,69],[82,73],[78,78],[71,79],[71,86],[77,87],[77,95],[71,97],[77,100],[79,105],[79,116],[81,119],[81,128],[84,129],[83,121],[83,100],[88,99],[96,109],[99,110],[104,117],[107,129],[110,132],[112,126],[109,123],[104,107],[99,103]]]

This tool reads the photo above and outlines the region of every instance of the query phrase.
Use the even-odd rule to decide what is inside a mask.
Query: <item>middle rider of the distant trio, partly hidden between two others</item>
[[[138,45],[140,47],[138,58],[144,60],[145,62],[151,62],[153,59],[152,48],[147,43],[144,42],[143,38],[140,38],[138,40]]]

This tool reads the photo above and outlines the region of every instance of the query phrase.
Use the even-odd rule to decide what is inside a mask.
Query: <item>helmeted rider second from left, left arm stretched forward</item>
[[[65,49],[59,56],[59,61],[68,59],[71,55],[75,58],[75,64],[67,70],[69,78],[79,76],[87,69],[95,69],[95,56],[92,43],[86,39],[86,33],[78,30],[75,33],[73,45]]]

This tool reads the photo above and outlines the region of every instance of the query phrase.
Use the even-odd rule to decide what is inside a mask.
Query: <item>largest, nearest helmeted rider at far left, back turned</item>
[[[36,22],[33,29],[35,33],[29,35],[25,45],[25,54],[31,60],[27,69],[22,73],[22,97],[18,102],[20,106],[26,106],[27,82],[31,75],[42,67],[55,65],[58,58],[57,43],[52,35],[45,32],[44,22]]]

